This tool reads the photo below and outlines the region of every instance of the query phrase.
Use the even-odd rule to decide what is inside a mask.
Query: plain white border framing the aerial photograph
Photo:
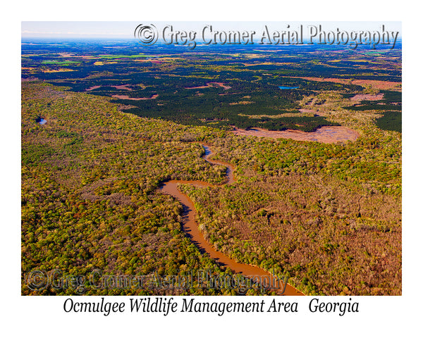
[[[4,332],[44,337],[105,337],[126,334],[160,337],[167,334],[215,337],[220,334],[252,335],[300,334],[314,337],[369,337],[370,334],[394,337],[417,329],[422,311],[419,282],[419,242],[422,238],[422,218],[419,199],[422,186],[420,165],[422,144],[419,136],[422,112],[420,18],[417,8],[398,1],[20,1],[12,13],[4,11],[1,23],[6,41],[1,52],[4,133],[2,140],[2,177],[4,179],[1,206],[4,222],[1,253],[4,273],[1,285],[6,302],[2,303]],[[11,14],[11,15],[10,15]],[[402,21],[403,22],[403,296],[353,297],[360,301],[360,313],[317,315],[304,311],[286,315],[102,315],[67,314],[62,311],[63,297],[20,296],[20,21],[22,20],[253,20],[253,21]],[[7,118],[6,118],[7,116]],[[326,297],[340,301],[337,297]],[[220,298],[223,299],[223,298]],[[120,297],[117,299],[121,300]],[[234,299],[231,298],[231,301]],[[292,299],[290,299],[292,301]],[[300,304],[307,301],[298,299]],[[6,317],[6,318],[5,318]],[[7,330],[9,329],[9,330]],[[410,331],[409,331],[410,330]],[[417,329],[417,332],[421,330]]]

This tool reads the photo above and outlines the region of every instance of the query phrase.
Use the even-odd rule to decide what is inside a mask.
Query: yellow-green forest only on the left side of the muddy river
[[[231,294],[197,284],[165,291],[154,278],[226,271],[198,251],[180,227],[182,206],[156,192],[169,178],[221,182],[201,160],[202,147],[181,141],[218,134],[119,113],[87,94],[23,84],[22,271],[61,270],[85,276],[63,290],[23,294]],[[41,115],[47,123],[39,125]],[[152,139],[156,135],[156,139]],[[142,275],[139,289],[100,289],[89,275]],[[228,272],[229,273],[229,272]]]

